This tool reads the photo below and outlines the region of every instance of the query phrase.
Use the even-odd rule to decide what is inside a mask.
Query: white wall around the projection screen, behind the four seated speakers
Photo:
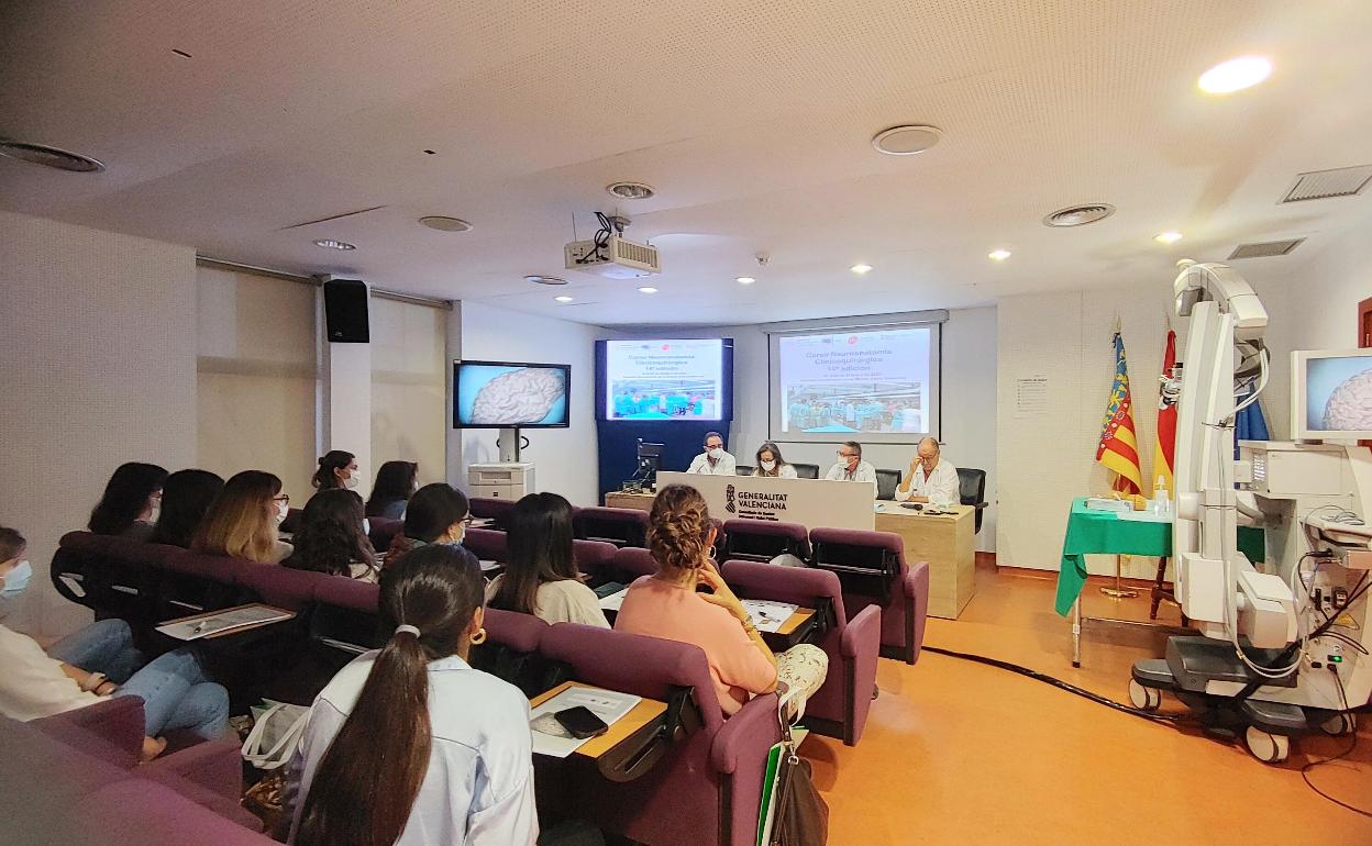
[[[767,333],[760,326],[711,326],[605,330],[601,337],[733,337],[734,422],[729,451],[740,463],[753,463],[767,440]],[[995,550],[996,540],[996,309],[959,309],[948,313],[943,329],[943,450],[958,466],[986,470],[986,502],[978,550]],[[818,463],[820,473],[837,461],[833,444],[778,442],[786,461]],[[866,444],[863,458],[878,468],[910,468],[914,444]]]

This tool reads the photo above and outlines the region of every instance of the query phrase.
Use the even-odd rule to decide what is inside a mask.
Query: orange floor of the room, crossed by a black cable
[[[925,643],[1014,661],[1128,701],[1129,666],[1162,640],[1132,627],[1088,628],[1072,669],[1069,623],[1052,610],[1054,576],[978,568],[956,621],[929,621]],[[1147,601],[1088,585],[1087,614],[1147,618]],[[1165,612],[1177,620],[1173,609]],[[1242,745],[1157,725],[989,666],[932,653],[916,666],[882,660],[858,747],[811,735],[801,753],[830,808],[836,846],[1110,843],[1243,846],[1372,843],[1372,819],[1301,780],[1301,764],[1347,738],[1310,738],[1281,766]],[[1180,709],[1165,699],[1163,709]],[[1372,720],[1350,764],[1312,771],[1327,793],[1372,808]]]

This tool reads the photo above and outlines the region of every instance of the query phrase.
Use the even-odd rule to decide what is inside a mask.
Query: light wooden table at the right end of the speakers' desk
[[[906,561],[929,564],[929,614],[956,620],[977,590],[977,509],[958,505],[940,510],[954,514],[923,514],[895,502],[881,502],[877,531],[900,535]]]

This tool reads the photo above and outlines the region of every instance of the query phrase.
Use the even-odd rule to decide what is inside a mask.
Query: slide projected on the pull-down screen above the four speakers
[[[781,433],[930,432],[933,333],[918,326],[781,336]]]

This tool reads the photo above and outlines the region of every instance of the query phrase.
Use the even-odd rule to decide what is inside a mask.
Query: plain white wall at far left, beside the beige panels
[[[36,570],[16,623],[56,635],[91,617],[52,590],[52,553],[114,468],[193,463],[195,251],[0,213],[0,522]]]

